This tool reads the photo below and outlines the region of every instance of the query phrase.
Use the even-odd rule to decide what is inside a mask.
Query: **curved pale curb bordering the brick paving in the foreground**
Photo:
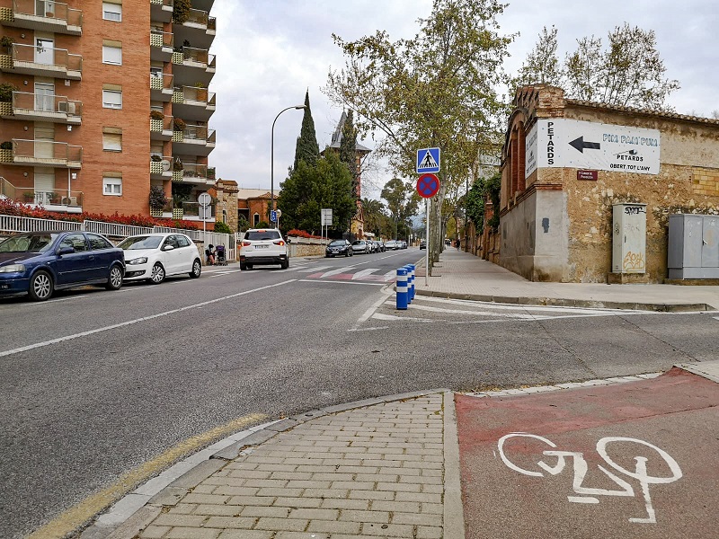
[[[403,401],[435,393],[445,395],[446,402],[446,395],[452,394],[453,392],[449,389],[438,388],[411,393],[397,393],[373,399],[335,404],[333,406],[317,410],[306,411],[283,420],[264,423],[260,429],[245,429],[241,433],[235,433],[234,435],[226,437],[224,440],[216,442],[217,445],[225,445],[224,448],[209,455],[207,460],[193,463],[189,470],[182,473],[182,475],[174,479],[173,482],[170,482],[161,490],[151,492],[151,497],[149,497],[146,493],[146,485],[147,483],[154,481],[156,478],[149,480],[148,482],[140,485],[138,489],[126,494],[123,498],[113,503],[112,506],[106,509],[103,513],[96,515],[93,522],[84,529],[82,534],[79,535],[79,539],[135,539],[139,532],[155,520],[155,518],[163,511],[164,507],[176,505],[188,490],[196,487],[200,484],[200,482],[206,480],[210,475],[216,473],[226,464],[232,462],[240,455],[251,453],[253,451],[253,447],[260,446],[262,443],[280,434],[280,432],[294,429],[309,420],[315,420],[316,418],[321,418],[326,415],[342,411],[364,408],[374,404]],[[445,411],[445,426],[447,426],[447,418],[447,411]],[[226,444],[226,440],[233,438],[236,439],[244,432],[248,434],[238,441]],[[183,464],[191,460],[193,460],[192,456],[175,465]],[[456,479],[458,482],[458,477]],[[131,507],[133,505],[138,505],[138,496],[144,496],[146,498],[145,503],[142,504],[141,507],[128,509],[128,506]],[[142,499],[140,499],[140,501],[142,501]],[[452,509],[455,513],[457,512],[456,507],[453,506]],[[106,521],[109,520],[111,523],[103,524],[103,519]]]

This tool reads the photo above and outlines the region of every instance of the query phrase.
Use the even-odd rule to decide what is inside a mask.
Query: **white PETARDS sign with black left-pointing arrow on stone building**
[[[526,137],[525,175],[537,168],[575,168],[658,174],[657,129],[576,119],[539,119]]]

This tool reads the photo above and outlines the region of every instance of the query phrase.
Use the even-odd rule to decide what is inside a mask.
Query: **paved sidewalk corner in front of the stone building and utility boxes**
[[[439,255],[427,286],[423,261],[415,270],[414,285],[415,293],[425,296],[524,305],[651,311],[719,310],[719,286],[532,282],[454,248]]]

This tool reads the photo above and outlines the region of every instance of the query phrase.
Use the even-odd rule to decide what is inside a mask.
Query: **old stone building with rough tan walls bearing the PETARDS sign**
[[[519,89],[493,258],[531,280],[612,282],[613,205],[645,204],[644,271],[667,278],[670,214],[719,214],[719,120]],[[616,274],[615,274],[616,277]]]

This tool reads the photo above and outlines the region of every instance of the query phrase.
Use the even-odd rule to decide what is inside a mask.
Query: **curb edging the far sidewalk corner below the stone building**
[[[501,303],[510,305],[545,305],[556,307],[581,307],[590,309],[619,309],[624,311],[650,311],[653,313],[697,313],[715,311],[708,304],[653,304],[620,301],[599,301],[588,299],[563,299],[557,297],[527,296],[484,296],[481,294],[457,294],[456,292],[439,292],[415,288],[416,296],[443,297],[446,299],[464,299],[484,303]]]

